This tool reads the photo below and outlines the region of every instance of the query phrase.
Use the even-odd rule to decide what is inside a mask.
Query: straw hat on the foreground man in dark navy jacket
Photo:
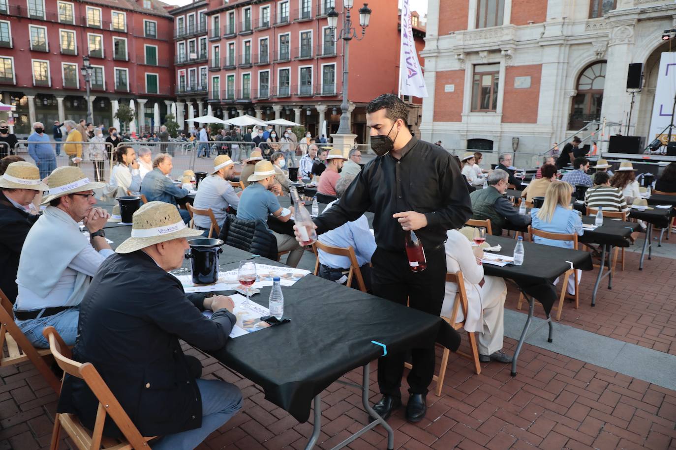
[[[131,237],[115,250],[131,253],[153,244],[178,239],[179,237],[201,236],[203,231],[188,228],[176,206],[166,202],[147,202],[134,213]]]

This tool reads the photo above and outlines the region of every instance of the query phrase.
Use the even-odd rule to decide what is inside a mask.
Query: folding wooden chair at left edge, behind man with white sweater
[[[19,364],[20,362],[32,362],[47,384],[54,389],[55,393],[61,392],[61,383],[49,368],[45,356],[51,354],[48,348],[36,348],[28,341],[28,338],[14,322],[14,311],[11,302],[0,289],[0,367]],[[7,344],[7,351],[3,345]]]

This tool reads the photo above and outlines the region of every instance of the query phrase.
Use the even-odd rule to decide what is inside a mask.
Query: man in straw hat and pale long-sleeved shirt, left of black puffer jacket
[[[195,196],[195,208],[211,208],[216,223],[220,227],[225,220],[225,210],[228,206],[237,209],[239,196],[228,182],[235,175],[235,162],[227,154],[219,154],[214,159],[214,170],[211,175],[199,182],[199,189]],[[241,194],[241,192],[240,192]],[[195,227],[208,230],[211,219],[208,216],[193,215]]]

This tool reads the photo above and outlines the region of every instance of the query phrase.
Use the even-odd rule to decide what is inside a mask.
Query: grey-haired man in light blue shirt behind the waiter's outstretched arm
[[[336,193],[340,198],[347,186],[352,183],[354,176],[347,175],[342,177],[336,183]],[[331,208],[335,202],[334,200],[329,203],[324,211]],[[368,219],[365,215],[362,215],[359,219],[354,222],[347,222],[327,231],[326,233],[320,235],[319,241],[322,244],[327,244],[328,246],[334,247],[343,247],[347,248],[352,246],[354,248],[354,254],[357,257],[357,262],[360,266],[362,272],[362,278],[364,279],[364,285],[366,289],[370,291],[371,288],[371,256],[373,252],[376,251],[376,240],[373,237],[370,229],[368,228]],[[346,256],[336,256],[329,254],[322,250],[319,252],[319,276],[327,280],[332,280],[345,284],[347,281],[347,271],[349,271],[349,258]],[[352,279],[352,287],[359,289],[356,278]]]

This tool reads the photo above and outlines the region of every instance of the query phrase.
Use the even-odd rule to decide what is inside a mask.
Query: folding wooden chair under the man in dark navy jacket
[[[51,434],[49,449],[57,450],[59,448],[59,434],[61,434],[62,429],[66,430],[68,437],[81,450],[98,450],[101,448],[115,450],[150,449],[148,441],[155,439],[155,437],[141,436],[139,430],[132,423],[126,412],[124,412],[122,405],[120,405],[120,402],[108,389],[105,381],[103,381],[103,378],[101,378],[101,375],[99,375],[94,366],[89,362],[79,363],[72,360],[70,349],[66,347],[64,340],[59,336],[54,327],[45,328],[43,335],[49,341],[51,354],[54,356],[57,364],[59,364],[59,367],[64,370],[64,373],[84,380],[84,383],[87,383],[89,389],[99,400],[99,409],[97,410],[93,431],[85,428],[75,414],[57,413],[54,418],[54,428]],[[120,442],[116,439],[103,437],[103,424],[106,415],[110,415],[118,428],[120,428],[126,441]]]

